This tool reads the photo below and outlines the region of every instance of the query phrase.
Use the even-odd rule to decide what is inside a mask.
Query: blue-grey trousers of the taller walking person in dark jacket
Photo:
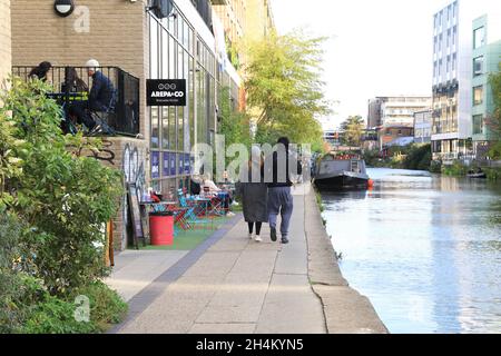
[[[268,188],[268,215],[269,227],[276,228],[278,214],[282,216],[281,234],[282,237],[288,236],[291,216],[294,209],[294,198],[291,194],[291,187]]]

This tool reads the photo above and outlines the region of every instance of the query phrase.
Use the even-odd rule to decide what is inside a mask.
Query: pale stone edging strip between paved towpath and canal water
[[[312,187],[304,195],[308,277],[322,300],[330,334],[387,334],[369,298],[351,288],[337,264]]]

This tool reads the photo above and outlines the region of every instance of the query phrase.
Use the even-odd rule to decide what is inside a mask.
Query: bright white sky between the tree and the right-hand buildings
[[[433,14],[444,0],[271,0],[279,33],[303,28],[324,43],[325,93],[334,115],[367,116],[376,96],[429,95],[432,90]]]

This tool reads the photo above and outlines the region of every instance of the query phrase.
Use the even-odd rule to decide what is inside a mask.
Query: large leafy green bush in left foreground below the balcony
[[[120,172],[68,148],[87,146],[61,132],[60,107],[41,81],[13,79],[0,108],[3,209],[29,226],[23,254],[52,295],[106,276],[102,225],[117,211]],[[11,115],[10,115],[11,113]]]

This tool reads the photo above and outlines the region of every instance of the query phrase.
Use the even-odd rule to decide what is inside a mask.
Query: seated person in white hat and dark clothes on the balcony
[[[71,111],[77,116],[79,123],[84,123],[89,131],[98,131],[99,126],[92,119],[90,111],[107,111],[114,97],[114,85],[108,77],[99,70],[99,62],[95,59],[87,61],[86,67],[89,77],[92,77],[92,88],[89,100],[77,101],[71,106]]]

